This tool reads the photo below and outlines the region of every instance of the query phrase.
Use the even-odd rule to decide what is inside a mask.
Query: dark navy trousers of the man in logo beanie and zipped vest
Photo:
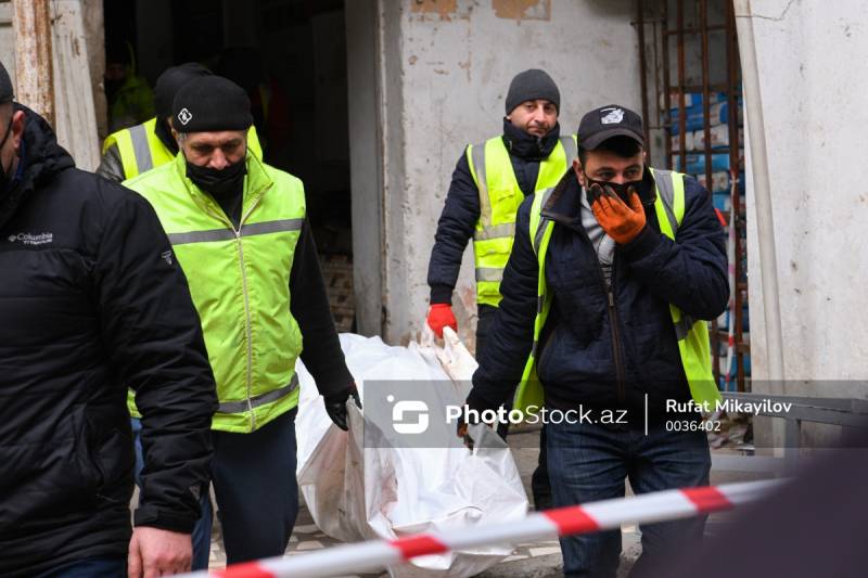
[[[282,556],[286,550],[298,515],[297,411],[293,409],[252,434],[212,431],[212,481],[227,564]],[[207,499],[207,515],[193,530],[193,561],[200,564],[204,558],[200,566],[204,569],[208,567],[210,526]]]

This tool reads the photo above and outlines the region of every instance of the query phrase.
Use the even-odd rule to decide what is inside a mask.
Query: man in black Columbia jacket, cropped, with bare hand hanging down
[[[2,64],[0,102],[0,575],[184,571],[217,398],[183,272],[148,202],[76,169]]]

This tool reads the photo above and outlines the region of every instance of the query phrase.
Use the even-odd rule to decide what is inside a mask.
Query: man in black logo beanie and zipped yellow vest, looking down
[[[197,78],[175,97],[171,123],[180,154],[125,184],[156,209],[202,320],[220,402],[212,472],[227,562],[282,555],[298,509],[296,359],[337,427],[347,428],[347,400],[360,407],[358,394],[304,188],[248,154],[247,94],[219,76]]]

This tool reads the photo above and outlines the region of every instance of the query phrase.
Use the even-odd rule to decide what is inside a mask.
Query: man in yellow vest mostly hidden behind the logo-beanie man
[[[210,74],[197,62],[166,68],[154,87],[156,116],[141,125],[108,134],[102,145],[103,157],[97,175],[120,182],[175,158],[178,154],[178,143],[171,136],[171,103],[175,94],[188,81]],[[261,158],[263,152],[254,128],[251,128],[247,139],[253,153]]]

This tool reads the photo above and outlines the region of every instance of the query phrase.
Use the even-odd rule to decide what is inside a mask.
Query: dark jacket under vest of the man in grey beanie
[[[534,193],[539,163],[551,154],[559,137],[559,125],[538,139],[503,119],[503,144],[507,145],[512,170],[525,196]],[[473,236],[480,213],[480,190],[470,172],[465,147],[452,172],[452,181],[446,193],[446,205],[437,221],[434,247],[431,249],[427,284],[431,286],[432,304],[452,303],[452,290],[461,269],[461,256],[468,241]]]

